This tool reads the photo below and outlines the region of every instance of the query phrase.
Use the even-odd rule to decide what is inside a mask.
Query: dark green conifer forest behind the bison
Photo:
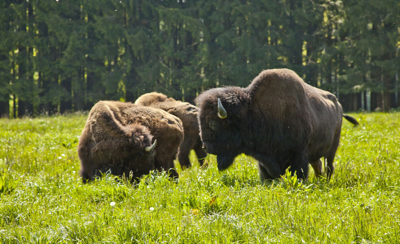
[[[345,111],[400,106],[398,0],[2,0],[0,117],[158,91],[192,102],[286,67]]]

